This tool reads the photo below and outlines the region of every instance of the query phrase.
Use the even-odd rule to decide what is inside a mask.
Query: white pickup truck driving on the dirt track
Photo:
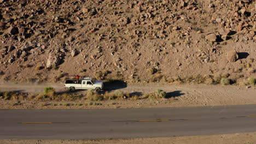
[[[74,92],[75,89],[92,89],[100,92],[103,89],[103,81],[97,81],[91,77],[83,77],[82,80],[66,80],[65,87]]]

